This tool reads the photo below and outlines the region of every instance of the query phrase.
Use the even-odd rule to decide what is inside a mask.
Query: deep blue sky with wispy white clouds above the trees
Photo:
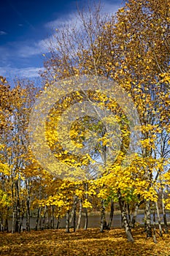
[[[77,4],[83,0],[4,0],[0,8],[0,75],[9,83],[17,76],[38,78],[43,69],[43,53],[53,30],[74,22]],[[122,1],[103,0],[105,12],[115,12]]]

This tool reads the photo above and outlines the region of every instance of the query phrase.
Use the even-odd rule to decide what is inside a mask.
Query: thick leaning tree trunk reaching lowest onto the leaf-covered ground
[[[123,218],[123,226],[125,228],[126,236],[128,238],[128,241],[134,242],[134,238],[131,235],[131,227],[129,226],[127,214],[125,211],[125,201],[123,200],[123,197],[120,193],[120,189],[117,192],[117,196],[118,196],[118,200],[119,200],[120,211],[121,211],[122,218]]]

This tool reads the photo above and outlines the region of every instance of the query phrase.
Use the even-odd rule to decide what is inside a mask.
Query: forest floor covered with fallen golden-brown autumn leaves
[[[0,255],[18,256],[169,256],[170,235],[156,235],[158,243],[146,238],[142,228],[132,231],[134,243],[127,241],[123,229],[97,228],[65,233],[65,230],[41,230],[0,233]]]

